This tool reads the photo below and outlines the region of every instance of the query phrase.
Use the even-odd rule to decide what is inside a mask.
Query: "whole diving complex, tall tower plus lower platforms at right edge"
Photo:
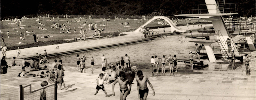
[[[231,16],[238,14],[236,3],[224,3],[224,0],[218,0],[218,3],[216,3],[215,0],[205,0],[205,3],[206,4],[198,5],[198,9],[182,10],[181,14],[175,16],[198,17],[212,21],[213,30],[210,30],[211,34],[205,34],[204,31],[191,31],[191,35],[185,36],[186,38],[191,38],[191,40],[186,39],[183,41],[204,44],[210,62],[216,62],[215,54],[213,53],[211,48],[211,44],[215,42],[217,42],[220,47],[220,51],[222,53],[221,56],[224,59],[228,60],[229,63],[231,62],[229,52],[233,50],[235,51],[236,56],[239,56],[240,60],[242,59],[242,56],[244,56],[244,54],[242,55],[241,51],[243,49],[244,52],[246,42],[250,44],[250,50],[255,50],[254,45],[251,45],[251,39],[249,38],[249,36],[247,36],[247,34],[252,35],[255,34],[255,32],[243,32],[240,23],[237,22],[239,20],[236,20],[236,18],[234,17],[232,17],[232,31],[230,31],[231,28],[227,28],[226,23],[222,18],[222,16]],[[207,9],[205,9],[206,7]],[[246,25],[246,28],[247,27],[248,26]],[[252,27],[254,26],[250,27],[252,31]],[[235,32],[238,29],[240,31]],[[228,39],[230,40],[230,51],[226,43]],[[238,42],[235,41],[236,39],[238,40]]]

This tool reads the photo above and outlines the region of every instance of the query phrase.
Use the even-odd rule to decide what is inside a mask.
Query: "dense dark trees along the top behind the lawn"
[[[216,0],[217,1],[217,0]],[[255,16],[255,0],[226,0],[236,3],[239,16]],[[204,0],[1,0],[1,17],[33,14],[68,15],[149,15],[181,14],[196,9]]]

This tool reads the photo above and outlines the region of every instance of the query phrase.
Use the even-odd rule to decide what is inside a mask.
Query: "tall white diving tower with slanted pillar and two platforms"
[[[230,60],[229,55],[227,53],[227,49],[226,49],[228,48],[228,45],[226,44],[226,40],[228,38],[231,40],[230,42],[231,42],[232,50],[235,50],[235,52],[238,52],[238,50],[232,39],[232,36],[230,35],[226,27],[226,24],[222,16],[230,16],[230,15],[238,14],[236,3],[217,4],[215,0],[205,0],[205,3],[206,4],[204,5],[198,5],[198,9],[182,10],[180,15],[175,15],[175,16],[199,17],[199,18],[211,20],[213,28],[217,34],[213,36],[214,37],[213,40],[211,39],[211,40],[184,40],[184,41],[204,44],[210,62],[216,62],[216,58],[214,56],[214,53],[210,45],[214,42],[218,42],[218,45],[220,46],[221,51],[225,56],[224,58],[226,58],[227,60]],[[219,5],[222,5],[222,8],[218,8]],[[206,6],[207,9],[200,9],[199,6]],[[188,11],[189,14],[182,14],[182,12],[184,11],[185,12]]]

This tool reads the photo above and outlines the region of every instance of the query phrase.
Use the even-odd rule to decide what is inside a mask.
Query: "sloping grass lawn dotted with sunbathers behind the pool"
[[[108,33],[113,33],[113,34],[118,34],[118,31],[121,32],[127,32],[127,31],[133,31],[137,28],[139,28],[141,26],[141,23],[143,23],[142,20],[126,20],[126,19],[118,19],[118,20],[114,20],[114,19],[110,19],[110,21],[102,21],[103,19],[81,19],[81,22],[75,22],[74,20],[79,20],[79,19],[64,19],[64,18],[59,18],[59,20],[57,20],[57,18],[55,18],[55,21],[47,21],[50,20],[52,18],[40,18],[40,22],[43,23],[45,25],[45,27],[41,26],[38,24],[38,22],[36,21],[36,18],[33,19],[22,19],[24,21],[21,22],[21,25],[26,25],[24,26],[24,28],[26,29],[19,29],[20,27],[17,27],[16,24],[9,24],[9,23],[13,23],[12,21],[1,21],[1,31],[3,31],[3,33],[1,33],[1,36],[3,36],[5,44],[7,45],[7,47],[9,47],[9,49],[15,49],[16,47],[20,47],[20,49],[22,48],[28,48],[30,46],[35,47],[35,46],[44,46],[44,45],[51,45],[54,42],[56,43],[66,43],[65,41],[61,41],[64,39],[71,39],[71,38],[75,38],[75,37],[79,37],[79,31],[81,28],[79,28],[80,25],[84,24],[86,21],[88,21],[88,23],[97,23],[97,29],[102,29],[104,28],[104,33],[107,32]],[[67,24],[67,21],[71,22],[69,24]],[[141,23],[140,23],[141,21]],[[144,23],[148,21],[148,20],[144,20]],[[194,22],[197,22],[198,20],[192,20]],[[129,22],[130,25],[120,25],[121,23],[125,23],[125,22]],[[158,25],[157,20],[155,20],[155,22],[152,22],[148,25],[146,25],[146,27],[158,27],[158,26],[163,26],[163,25]],[[59,33],[62,31],[66,31],[66,30],[59,30],[59,29],[51,29],[51,27],[53,27],[53,23],[59,23],[60,25],[64,24],[66,26],[70,25],[71,30],[69,30],[71,33]],[[85,23],[85,24],[88,24]],[[106,26],[100,26],[100,23],[108,25],[108,27]],[[183,23],[183,22],[182,22]],[[185,23],[185,22],[184,22]],[[30,27],[28,27],[30,26]],[[127,27],[129,26],[129,27]],[[166,25],[165,25],[166,26]],[[41,28],[46,28],[47,30],[40,30],[38,29],[38,27]],[[76,34],[74,35],[73,31],[74,31],[74,27],[76,27]],[[92,31],[88,31],[88,25],[86,26],[80,26],[80,27],[85,27],[86,28],[86,32],[87,32],[87,36],[93,36],[94,34],[94,30]],[[17,30],[13,30],[13,28],[17,28]],[[67,27],[68,29],[68,27]],[[34,33],[28,33],[30,35],[26,35],[26,39],[25,40],[20,40],[19,37],[20,32],[25,33],[25,31],[33,31],[36,34],[38,34],[39,37],[39,43],[34,43],[34,37],[32,36]],[[84,28],[82,30],[85,30]],[[7,31],[9,31],[9,37],[7,38]],[[98,33],[98,32],[97,32]],[[51,38],[41,38],[43,36],[47,36],[47,35],[53,36]],[[124,35],[124,34],[123,34]],[[24,36],[22,36],[24,38]],[[49,43],[43,43],[44,41],[51,41]],[[1,41],[2,42],[2,41]],[[19,42],[22,43],[27,43],[27,44],[17,44]],[[72,41],[71,41],[72,42]],[[28,45],[28,44],[33,44],[33,45]],[[0,44],[1,46],[2,43]],[[25,46],[27,45],[27,46]]]

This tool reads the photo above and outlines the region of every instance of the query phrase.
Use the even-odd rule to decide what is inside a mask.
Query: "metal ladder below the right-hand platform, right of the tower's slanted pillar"
[[[238,52],[243,53],[245,49],[245,43],[246,43],[246,31],[239,32],[239,37],[238,37]]]

